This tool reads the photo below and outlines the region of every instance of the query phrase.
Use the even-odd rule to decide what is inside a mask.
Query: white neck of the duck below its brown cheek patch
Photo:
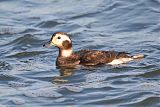
[[[70,49],[59,49],[59,57],[69,57],[72,55],[72,48]]]

